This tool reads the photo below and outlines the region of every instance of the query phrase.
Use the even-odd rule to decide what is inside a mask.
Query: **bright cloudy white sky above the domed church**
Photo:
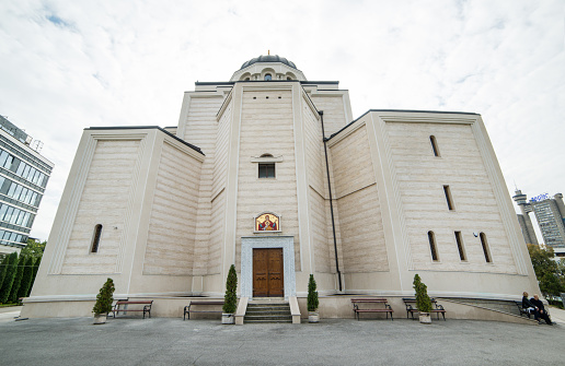
[[[176,126],[196,81],[268,51],[338,80],[354,118],[481,114],[509,194],[565,193],[564,0],[2,0],[0,45],[0,115],[55,163],[44,240],[84,128]]]

